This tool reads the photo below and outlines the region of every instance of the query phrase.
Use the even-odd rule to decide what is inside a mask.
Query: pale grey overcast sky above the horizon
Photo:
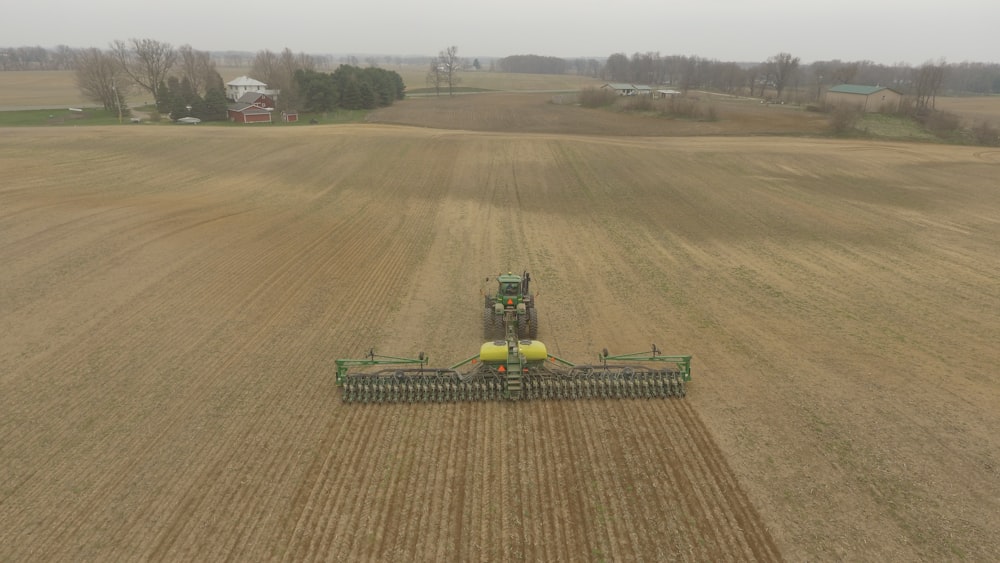
[[[0,46],[150,38],[203,51],[594,57],[655,51],[757,62],[1000,62],[1000,0],[11,0]],[[156,8],[159,8],[159,13]]]

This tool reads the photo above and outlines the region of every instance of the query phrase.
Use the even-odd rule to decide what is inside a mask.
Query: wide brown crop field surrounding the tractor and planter
[[[0,561],[996,558],[1000,151],[497,100],[0,129]],[[688,397],[340,402],[522,268],[552,352]]]

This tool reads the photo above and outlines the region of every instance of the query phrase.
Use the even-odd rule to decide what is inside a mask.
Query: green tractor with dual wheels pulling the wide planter
[[[483,308],[483,336],[487,340],[504,340],[507,337],[505,317],[513,319],[517,338],[538,339],[538,310],[535,296],[530,292],[531,274],[499,274],[497,291],[485,293]],[[490,278],[486,278],[487,283]]]

